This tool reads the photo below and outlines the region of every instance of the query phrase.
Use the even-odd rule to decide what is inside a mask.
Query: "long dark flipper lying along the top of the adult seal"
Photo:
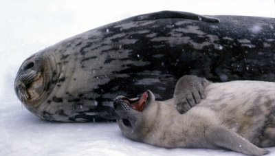
[[[145,20],[156,20],[156,19],[191,19],[195,21],[219,23],[219,19],[215,19],[210,16],[203,16],[199,14],[193,14],[190,12],[176,12],[176,11],[161,11],[161,12],[153,12],[149,14],[141,14],[138,16],[130,17],[129,19],[126,19],[126,20],[145,21]]]

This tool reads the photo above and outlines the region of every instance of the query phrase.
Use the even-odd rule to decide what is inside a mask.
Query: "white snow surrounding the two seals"
[[[166,149],[128,140],[115,123],[43,121],[14,94],[14,78],[31,54],[70,36],[129,16],[178,10],[275,17],[274,0],[0,0],[0,155],[241,155]],[[275,155],[275,148],[267,148]]]

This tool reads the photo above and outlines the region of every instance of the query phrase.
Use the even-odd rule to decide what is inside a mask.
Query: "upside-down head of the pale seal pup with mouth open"
[[[115,98],[113,107],[117,114],[117,123],[126,137],[135,141],[142,141],[144,134],[150,131],[148,112],[155,107],[155,96],[151,91],[143,93],[141,98]],[[147,115],[144,115],[147,114]]]

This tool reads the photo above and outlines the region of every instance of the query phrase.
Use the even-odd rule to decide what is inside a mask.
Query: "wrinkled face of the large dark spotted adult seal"
[[[14,90],[25,107],[34,114],[47,99],[58,80],[54,56],[39,52],[27,58],[14,81]]]

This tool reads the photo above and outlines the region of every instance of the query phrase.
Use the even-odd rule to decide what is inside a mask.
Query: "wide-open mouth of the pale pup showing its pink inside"
[[[145,91],[142,94],[141,98],[133,98],[133,99],[129,99],[129,98],[121,98],[120,100],[126,102],[127,104],[129,104],[133,109],[135,109],[136,111],[143,111],[144,108],[146,107],[146,105],[148,105],[148,101],[150,99],[149,97],[148,91]]]

